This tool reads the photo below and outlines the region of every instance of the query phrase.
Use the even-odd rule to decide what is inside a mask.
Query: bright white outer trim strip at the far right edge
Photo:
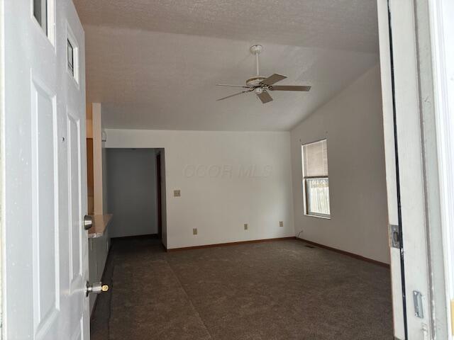
[[[454,30],[454,5],[450,0],[428,1],[434,83],[434,107],[443,233],[446,304],[454,298],[454,47],[448,35]],[[450,13],[450,15],[449,15]],[[446,20],[450,18],[450,20]],[[452,36],[450,36],[452,39]],[[451,319],[448,311],[448,328]],[[451,331],[449,331],[451,333]],[[449,339],[453,339],[452,334]]]

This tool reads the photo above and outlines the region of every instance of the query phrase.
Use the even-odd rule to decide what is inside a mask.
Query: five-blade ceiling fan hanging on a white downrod
[[[240,87],[244,89],[241,92],[236,94],[231,94],[230,96],[226,96],[223,98],[218,98],[216,101],[223,101],[224,99],[231,98],[233,96],[238,96],[239,94],[247,94],[249,92],[254,91],[255,94],[258,96],[262,103],[269,103],[272,101],[272,98],[268,91],[304,91],[307,92],[311,89],[311,86],[293,86],[293,85],[275,85],[278,81],[286,79],[286,76],[282,76],[282,74],[273,74],[270,77],[262,77],[260,76],[259,71],[259,60],[258,56],[260,52],[262,52],[262,45],[253,45],[250,47],[250,52],[255,55],[255,66],[257,74],[246,80],[246,85],[230,85],[230,84],[216,84],[217,86],[228,86],[228,87]]]

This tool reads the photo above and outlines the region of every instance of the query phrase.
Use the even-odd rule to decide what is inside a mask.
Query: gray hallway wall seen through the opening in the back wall
[[[155,149],[106,149],[110,237],[157,234]]]

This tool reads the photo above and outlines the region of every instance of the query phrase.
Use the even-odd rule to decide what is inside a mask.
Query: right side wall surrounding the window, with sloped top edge
[[[375,66],[291,132],[295,232],[389,263],[380,68]],[[331,220],[304,215],[301,144],[328,139]]]

